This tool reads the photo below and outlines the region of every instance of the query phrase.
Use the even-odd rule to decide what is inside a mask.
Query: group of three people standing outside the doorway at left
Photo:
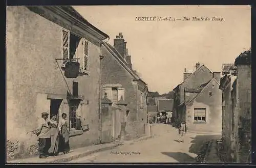
[[[35,131],[39,141],[39,158],[56,156],[59,152],[69,153],[69,124],[67,114],[62,113],[61,119],[57,121],[57,115],[51,116],[43,112],[39,125]]]

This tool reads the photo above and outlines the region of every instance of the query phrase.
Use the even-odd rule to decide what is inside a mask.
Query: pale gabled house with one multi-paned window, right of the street
[[[196,64],[193,73],[184,72],[184,81],[173,91],[176,123],[186,122],[188,131],[221,132],[220,72]]]

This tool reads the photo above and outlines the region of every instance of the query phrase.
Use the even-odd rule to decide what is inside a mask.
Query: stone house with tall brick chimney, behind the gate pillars
[[[126,132],[131,137],[145,133],[147,84],[132,68],[131,55],[128,54],[122,33],[114,39],[114,46],[104,43],[102,55],[102,89],[113,102],[123,98],[127,102]],[[103,93],[102,93],[103,94]],[[123,111],[124,113],[124,111]]]

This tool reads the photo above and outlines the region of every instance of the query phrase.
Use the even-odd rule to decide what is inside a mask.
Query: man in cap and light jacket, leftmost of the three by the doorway
[[[36,129],[37,136],[39,138],[39,158],[47,158],[48,149],[51,146],[50,138],[50,121],[48,120],[49,114],[42,112],[41,119],[39,120],[38,127]]]

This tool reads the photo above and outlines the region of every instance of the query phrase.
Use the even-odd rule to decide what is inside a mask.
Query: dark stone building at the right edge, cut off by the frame
[[[223,65],[222,143],[227,161],[251,161],[251,50]]]

